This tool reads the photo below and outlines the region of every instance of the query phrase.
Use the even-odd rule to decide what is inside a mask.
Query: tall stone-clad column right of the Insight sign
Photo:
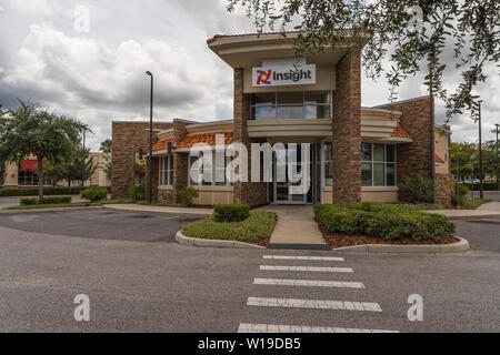
[[[354,50],[336,68],[333,203],[361,202],[361,59]]]

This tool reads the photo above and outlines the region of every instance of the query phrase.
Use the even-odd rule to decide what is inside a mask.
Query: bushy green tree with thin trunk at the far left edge
[[[20,162],[34,155],[38,163],[38,195],[43,199],[43,162],[59,163],[72,151],[80,132],[90,128],[79,120],[49,112],[38,104],[19,101],[0,120],[0,162]]]

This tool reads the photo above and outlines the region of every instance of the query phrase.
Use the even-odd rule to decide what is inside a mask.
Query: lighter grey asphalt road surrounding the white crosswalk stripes
[[[44,215],[50,222],[38,220],[30,230],[19,224],[33,221],[14,222],[12,215],[1,215],[0,332],[232,333],[241,323],[500,332],[500,254],[491,250],[500,235],[489,223],[459,222],[459,234],[476,233],[477,240],[471,241],[476,250],[448,255],[199,248],[96,234],[79,237],[71,231],[74,224],[83,234],[86,225],[93,229],[97,223],[108,225],[107,234],[116,230],[116,236],[126,239],[141,230],[158,233],[150,239],[157,241],[159,234],[170,233],[169,224],[179,223],[161,217],[151,223],[132,215],[60,212]],[[31,229],[66,231],[70,236]],[[263,255],[343,256],[344,261],[267,260]],[[264,271],[261,265],[350,267],[352,273]],[[364,288],[257,285],[254,278],[358,282]],[[73,317],[78,294],[90,297],[90,322]],[[411,294],[423,298],[422,322],[408,320]],[[251,306],[249,297],[370,302],[382,312]]]

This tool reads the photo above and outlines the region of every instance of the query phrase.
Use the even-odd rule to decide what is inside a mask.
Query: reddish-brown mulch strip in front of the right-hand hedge
[[[353,246],[362,244],[397,244],[397,245],[429,245],[429,244],[453,244],[460,242],[459,239],[444,235],[434,236],[424,241],[414,241],[409,237],[402,237],[393,241],[384,241],[382,239],[362,234],[344,234],[344,233],[332,233],[327,231],[321,224],[318,223],[320,231],[323,233],[324,241],[331,248]]]

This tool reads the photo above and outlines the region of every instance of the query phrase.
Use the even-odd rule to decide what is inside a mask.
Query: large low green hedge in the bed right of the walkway
[[[418,241],[450,235],[456,231],[448,217],[404,205],[323,204],[314,206],[314,216],[330,232],[371,235],[383,240],[407,236]]]

